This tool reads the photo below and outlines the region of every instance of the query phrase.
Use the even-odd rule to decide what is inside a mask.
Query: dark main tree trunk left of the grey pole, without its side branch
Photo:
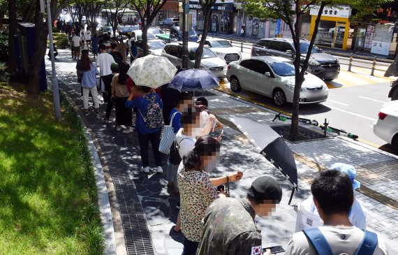
[[[35,21],[35,34],[34,41],[35,51],[31,56],[28,71],[28,96],[38,97],[40,94],[40,71],[43,63],[43,57],[47,48],[47,22],[43,22],[43,13],[40,13],[40,4],[36,5]]]

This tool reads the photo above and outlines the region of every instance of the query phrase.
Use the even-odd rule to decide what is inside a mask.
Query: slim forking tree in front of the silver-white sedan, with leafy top
[[[388,0],[375,0],[372,3],[380,3]],[[315,28],[312,31],[311,41],[309,43],[309,49],[314,48],[315,38],[318,34],[318,25],[320,17],[323,13],[325,6],[336,6],[336,5],[348,5],[351,7],[354,5],[356,8],[369,8],[365,7],[369,5],[367,0],[346,0],[346,1],[334,1],[334,0],[246,0],[244,3],[244,9],[249,15],[260,17],[261,20],[276,20],[281,19],[285,24],[288,25],[290,33],[293,38],[293,44],[295,52],[300,52],[300,36],[302,27],[302,15],[305,15],[311,8],[316,6],[319,7],[318,15],[316,16]],[[311,56],[311,50],[307,52],[305,56],[301,54],[295,54],[293,64],[295,66],[295,87],[293,96],[293,110],[292,110],[292,124],[290,126],[290,135],[297,138],[299,134],[299,100],[300,90],[302,83],[304,82],[304,74],[309,66],[309,58]]]

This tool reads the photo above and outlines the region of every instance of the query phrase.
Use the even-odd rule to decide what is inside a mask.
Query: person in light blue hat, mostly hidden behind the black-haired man
[[[357,171],[353,166],[348,165],[346,163],[334,163],[332,166],[330,166],[329,169],[339,170],[341,173],[346,173],[348,177],[350,177],[351,184],[353,184],[354,190],[359,189],[361,187],[361,183],[358,182],[358,180],[355,180],[355,177],[357,176]],[[310,196],[305,201],[302,201],[302,203],[300,203],[300,208],[319,215],[318,210],[316,209],[314,203],[313,196]],[[348,219],[350,219],[351,224],[360,229],[366,229],[367,223],[369,222],[367,222],[367,217],[366,217],[367,214],[365,212],[366,210],[364,209],[364,207],[362,207],[360,202],[354,197],[353,206],[351,207],[351,210],[348,213]]]

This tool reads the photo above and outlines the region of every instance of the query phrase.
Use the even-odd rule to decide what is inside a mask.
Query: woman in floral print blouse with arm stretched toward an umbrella
[[[181,230],[184,235],[182,255],[196,255],[202,236],[202,219],[207,207],[225,194],[218,194],[214,186],[242,179],[242,172],[216,178],[209,178],[207,166],[216,160],[220,143],[212,137],[198,138],[193,150],[183,157],[179,165],[177,180],[181,198]],[[222,199],[222,198],[221,198]]]

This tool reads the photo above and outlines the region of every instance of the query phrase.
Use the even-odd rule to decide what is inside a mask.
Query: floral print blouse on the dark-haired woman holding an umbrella
[[[207,207],[219,198],[207,173],[193,170],[186,171],[181,162],[177,181],[181,201],[181,231],[192,242],[199,242],[202,236],[202,219]]]

